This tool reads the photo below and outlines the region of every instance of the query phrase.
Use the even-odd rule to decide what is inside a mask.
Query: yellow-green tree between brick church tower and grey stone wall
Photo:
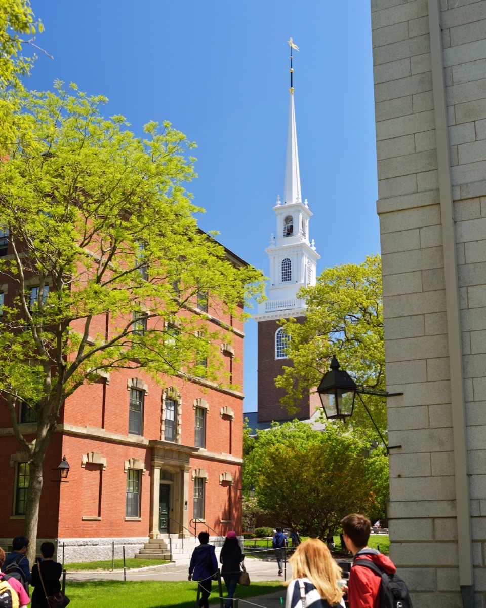
[[[298,297],[307,303],[304,323],[282,320],[290,336],[292,359],[292,366],[284,367],[275,382],[286,390],[282,405],[296,413],[296,404],[318,386],[333,354],[358,386],[385,390],[380,256],[366,257],[361,264],[326,268],[317,284],[300,289]],[[366,405],[378,428],[386,432],[385,399],[367,396]],[[358,398],[351,423],[374,428]]]

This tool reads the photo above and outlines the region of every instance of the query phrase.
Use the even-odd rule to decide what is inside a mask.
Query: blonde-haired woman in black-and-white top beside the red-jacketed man
[[[309,538],[302,542],[289,563],[292,579],[288,583],[286,608],[344,608],[338,584],[341,568],[323,541]]]

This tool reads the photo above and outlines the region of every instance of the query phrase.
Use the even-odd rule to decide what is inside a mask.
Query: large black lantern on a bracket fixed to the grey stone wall
[[[386,451],[388,452],[394,447],[402,447],[388,447],[386,441],[383,439],[382,434],[380,433],[380,429],[378,429],[376,426],[375,421],[373,420],[372,415],[369,412],[368,407],[366,407],[361,395],[394,397],[397,395],[403,395],[403,393],[389,393],[386,390],[358,389],[356,383],[347,373],[347,371],[340,370],[340,367],[341,366],[338,360],[335,358],[335,356],[333,356],[330,362],[330,370],[324,374],[323,379],[317,388],[326,418],[329,420],[346,420],[346,418],[351,418],[354,410],[354,400],[356,395],[358,395],[361,403],[365,407],[366,412],[368,412],[368,416],[371,418],[378,435],[380,435],[381,440],[385,444]]]

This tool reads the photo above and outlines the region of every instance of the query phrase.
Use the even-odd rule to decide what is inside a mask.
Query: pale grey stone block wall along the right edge
[[[463,606],[471,516],[486,606],[486,1],[441,0],[470,514],[456,512],[442,219],[427,0],[371,0],[391,452],[391,558],[417,608]]]

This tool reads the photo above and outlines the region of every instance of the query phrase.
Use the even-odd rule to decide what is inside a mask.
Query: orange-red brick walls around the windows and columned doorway
[[[221,311],[210,307],[210,314]],[[231,340],[234,357],[231,361],[233,384],[242,384],[243,337],[242,323],[231,317],[224,322],[238,331]],[[104,319],[97,319],[104,328]],[[94,323],[95,327],[96,323]],[[230,357],[224,357],[227,371]],[[146,386],[143,408],[143,435],[128,434],[129,381],[139,379]],[[85,384],[66,402],[61,412],[60,430],[54,435],[44,465],[44,489],[39,513],[39,537],[91,539],[138,539],[148,537],[151,531],[151,461],[150,440],[163,440],[163,390],[174,387],[180,394],[179,444],[194,446],[194,401],[204,399],[206,407],[206,445],[200,450],[204,457],[190,459],[188,516],[193,517],[194,469],[205,469],[205,519],[208,525],[225,534],[228,530],[241,531],[241,458],[242,458],[242,394],[219,390],[204,382],[165,378],[157,384],[141,370],[112,372],[109,381],[101,378]],[[7,429],[10,418],[7,406],[0,404],[2,425]],[[222,413],[222,409],[224,412]],[[15,467],[10,467],[10,456],[20,450],[13,435],[2,437],[0,452],[0,482],[4,494],[0,504],[0,517],[4,522],[2,537],[12,538],[22,533],[24,519],[10,519],[13,513]],[[91,453],[100,455],[103,463],[86,462]],[[51,483],[58,478],[56,469],[66,454],[70,465],[69,483]],[[143,463],[145,472],[140,480],[140,518],[125,517],[126,478],[125,463],[135,459]],[[106,463],[106,468],[104,467]],[[224,480],[220,483],[220,475]],[[232,481],[231,481],[232,480]],[[176,492],[174,487],[173,492]],[[182,500],[182,497],[179,497]],[[199,524],[199,530],[202,529]],[[6,545],[8,542],[4,541]],[[105,550],[104,548],[103,550]],[[84,553],[83,553],[84,555]],[[88,551],[94,559],[93,551]],[[83,558],[84,559],[84,558]]]

